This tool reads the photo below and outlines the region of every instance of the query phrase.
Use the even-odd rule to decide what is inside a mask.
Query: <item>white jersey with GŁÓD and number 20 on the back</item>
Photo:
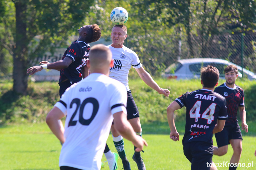
[[[66,116],[59,166],[99,170],[113,114],[126,113],[125,86],[99,73],[69,87],[54,106]]]

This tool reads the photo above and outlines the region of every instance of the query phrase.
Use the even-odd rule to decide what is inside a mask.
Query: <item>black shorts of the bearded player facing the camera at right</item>
[[[215,133],[215,138],[218,147],[230,144],[230,139],[243,140],[238,122],[234,124],[225,125],[221,132]]]

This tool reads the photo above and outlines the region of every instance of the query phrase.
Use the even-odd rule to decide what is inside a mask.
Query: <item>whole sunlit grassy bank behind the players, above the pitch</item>
[[[136,73],[133,73],[136,77]],[[177,97],[187,91],[201,89],[199,80],[166,80],[156,79],[162,88],[168,88],[169,97],[158,94],[141,79],[130,77],[129,87],[139,109],[142,123],[166,122],[166,109]],[[219,81],[219,85],[224,80]],[[237,85],[245,91],[245,109],[247,120],[255,120],[256,81],[238,80]],[[53,105],[59,100],[57,82],[31,82],[28,95],[17,95],[12,91],[12,82],[0,82],[0,124],[9,122],[42,122]],[[186,108],[175,112],[177,121],[185,120]],[[238,119],[239,116],[238,116]]]

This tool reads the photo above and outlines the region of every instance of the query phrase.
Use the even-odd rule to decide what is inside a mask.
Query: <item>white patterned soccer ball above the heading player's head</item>
[[[110,19],[116,25],[123,25],[128,20],[128,12],[122,7],[116,7],[112,10]]]

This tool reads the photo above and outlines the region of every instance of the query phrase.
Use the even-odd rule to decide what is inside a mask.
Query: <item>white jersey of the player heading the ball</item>
[[[125,46],[123,48],[114,48],[111,45],[106,47],[111,50],[114,59],[114,67],[110,68],[109,77],[122,82],[129,91],[128,74],[131,66],[136,69],[142,67],[138,55]]]

